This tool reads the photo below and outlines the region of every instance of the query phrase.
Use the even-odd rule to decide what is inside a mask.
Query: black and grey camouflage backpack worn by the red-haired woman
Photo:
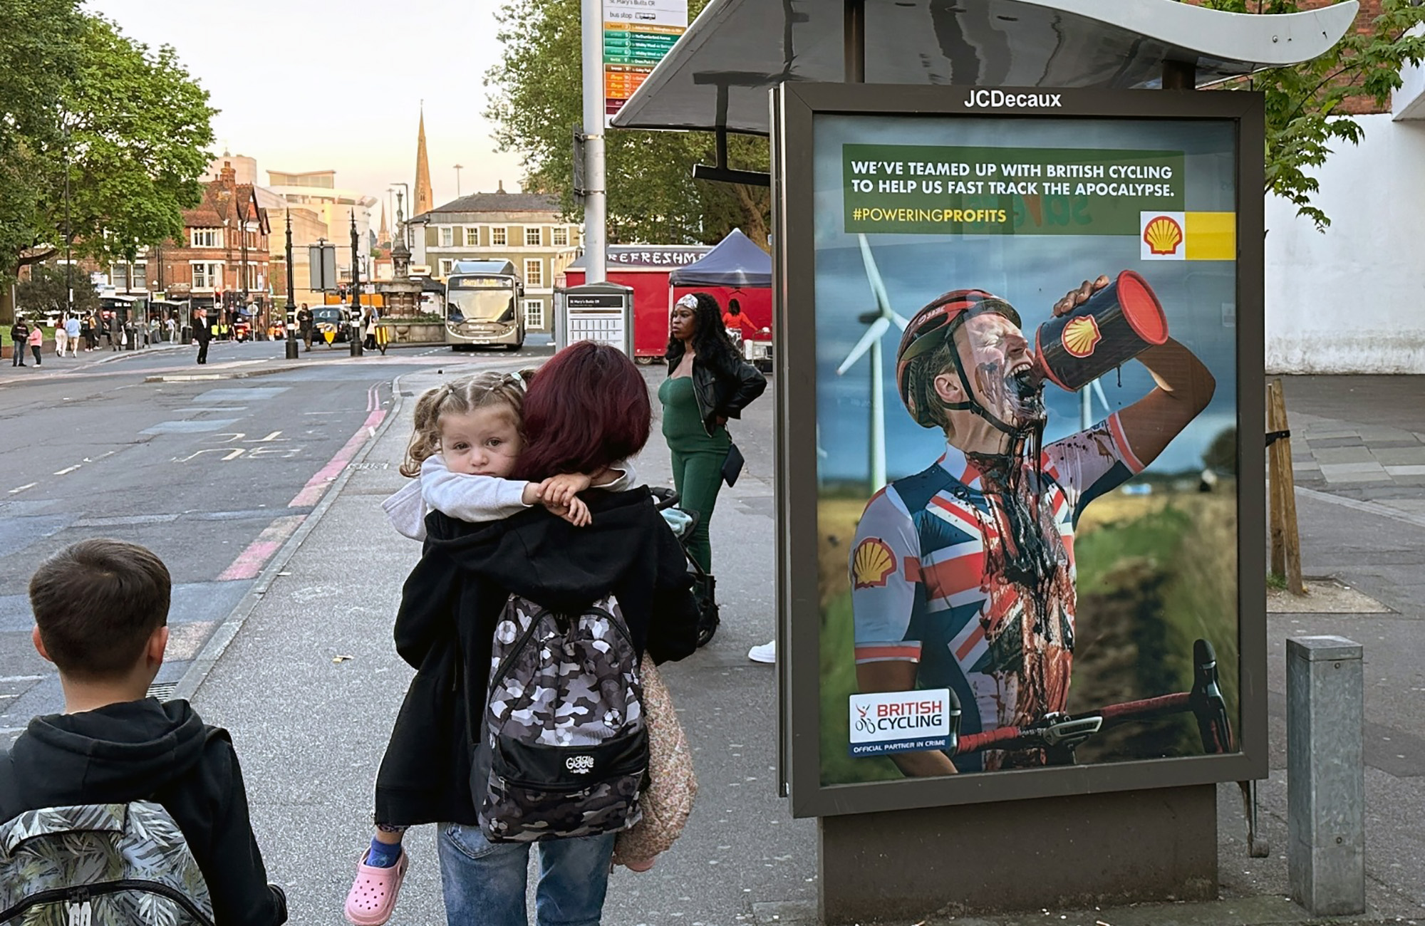
[[[494,628],[480,732],[472,791],[492,842],[637,823],[648,729],[638,651],[618,601],[556,614],[510,595]]]

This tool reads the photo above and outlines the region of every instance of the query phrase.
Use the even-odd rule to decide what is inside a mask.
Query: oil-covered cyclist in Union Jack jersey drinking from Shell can
[[[1114,328],[1133,302],[1137,323]],[[1032,345],[1012,305],[959,289],[911,319],[896,352],[898,392],[918,425],[945,432],[945,452],[878,491],[851,546],[859,691],[949,688],[966,732],[1064,709],[1079,514],[1151,463],[1216,387],[1207,366],[1167,336],[1156,296],[1133,274],[1086,281],[1053,316],[1053,343]],[[1087,430],[1042,444],[1046,380],[1074,389],[1066,380],[1129,358],[1154,387]],[[1043,749],[892,758],[913,776],[1046,761]]]

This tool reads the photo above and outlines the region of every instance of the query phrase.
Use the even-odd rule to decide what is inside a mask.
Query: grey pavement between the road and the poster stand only
[[[660,373],[648,373],[654,386]],[[415,397],[442,379],[422,372],[399,380],[399,410],[339,476],[328,507],[308,519],[315,526],[272,558],[215,635],[219,644],[200,654],[212,668],[192,701],[232,731],[268,872],[286,886],[294,923],[342,922],[369,841],[376,766],[412,677],[393,651],[392,621],[420,553],[379,504],[405,483],[396,467]],[[771,400],[760,402],[735,426],[740,442],[764,450],[747,454],[712,520],[722,627],[664,674],[694,748],[697,809],[651,872],[616,872],[608,926],[730,926],[754,922],[755,905],[795,902],[805,910],[815,899],[815,825],[794,822],[775,796],[772,667],[747,661],[748,647],[774,633],[771,412]],[[648,484],[670,483],[657,425],[637,466]],[[224,640],[231,643],[217,658]],[[396,926],[445,922],[433,836],[433,826],[420,826],[408,838],[413,860]]]

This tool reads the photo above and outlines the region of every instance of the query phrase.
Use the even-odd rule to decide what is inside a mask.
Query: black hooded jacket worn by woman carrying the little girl
[[[648,489],[581,497],[593,514],[587,527],[543,507],[484,524],[439,511],[426,517],[425,551],[396,615],[396,651],[416,677],[376,776],[376,822],[479,822],[472,724],[484,705],[494,624],[510,593],[559,610],[613,593],[640,652],[664,662],[697,648],[687,560]]]

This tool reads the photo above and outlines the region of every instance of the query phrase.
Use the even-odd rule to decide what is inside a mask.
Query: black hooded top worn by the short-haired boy
[[[187,701],[155,698],[30,721],[0,755],[0,821],[78,803],[157,801],[208,882],[218,926],[286,922],[248,821],[242,769],[227,731]]]

